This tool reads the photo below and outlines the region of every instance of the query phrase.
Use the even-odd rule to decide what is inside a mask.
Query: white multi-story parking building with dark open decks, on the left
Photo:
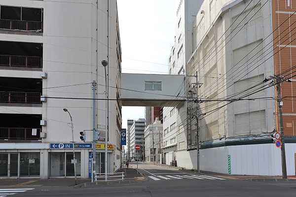
[[[105,172],[105,69],[108,97],[120,97],[121,49],[114,0],[0,1],[0,177],[91,175],[92,147],[79,131],[95,127],[97,172]],[[41,97],[40,97],[41,96]],[[102,100],[103,99],[103,100]],[[108,101],[108,172],[120,166],[121,106]],[[86,141],[92,141],[86,131]],[[8,168],[7,168],[8,166]]]

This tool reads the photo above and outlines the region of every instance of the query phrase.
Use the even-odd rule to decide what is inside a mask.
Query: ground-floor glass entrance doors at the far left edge
[[[0,154],[0,176],[13,178],[18,177],[18,154],[1,153]]]

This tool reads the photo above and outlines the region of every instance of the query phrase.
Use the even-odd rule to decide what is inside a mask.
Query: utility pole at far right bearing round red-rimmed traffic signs
[[[282,176],[283,179],[287,179],[287,166],[286,166],[286,152],[285,152],[285,139],[284,139],[284,127],[283,127],[283,111],[282,111],[282,97],[281,97],[281,86],[278,83],[276,85],[277,89],[277,101],[278,101],[278,111],[279,111],[279,129],[281,133],[281,156],[282,156]]]

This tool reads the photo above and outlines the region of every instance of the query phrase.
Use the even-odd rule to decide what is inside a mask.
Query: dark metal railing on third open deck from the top
[[[0,102],[41,103],[41,93],[0,91]]]

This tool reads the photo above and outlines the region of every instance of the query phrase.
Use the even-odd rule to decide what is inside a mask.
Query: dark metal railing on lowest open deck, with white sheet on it
[[[41,139],[41,129],[0,128],[0,139]]]

